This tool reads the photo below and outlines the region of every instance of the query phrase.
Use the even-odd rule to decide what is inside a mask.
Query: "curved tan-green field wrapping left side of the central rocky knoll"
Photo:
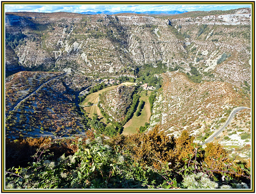
[[[100,97],[100,94],[102,94],[103,92],[106,92],[106,91],[112,90],[114,88],[117,88],[120,85],[128,86],[128,85],[132,85],[132,84],[134,84],[134,83],[124,82],[124,83],[121,83],[121,84],[119,84],[117,86],[110,86],[110,87],[104,88],[104,89],[102,89],[102,90],[100,90],[98,92],[94,92],[92,94],[89,94],[88,96],[86,96],[86,98],[82,102],[82,105],[86,106],[86,105],[88,105],[88,102],[91,102],[92,104],[97,104],[98,103],[98,99]],[[92,115],[95,113],[95,114],[98,114],[98,116],[100,118],[100,121],[106,123],[106,118],[103,117],[103,115],[101,114],[100,109],[98,108],[97,105],[84,107],[84,110],[89,114],[90,118],[92,118]],[[108,125],[111,125],[111,124],[108,124]]]

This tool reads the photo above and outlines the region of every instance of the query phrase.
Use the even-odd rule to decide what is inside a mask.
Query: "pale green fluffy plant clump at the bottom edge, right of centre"
[[[218,183],[210,180],[207,174],[200,172],[184,176],[183,186],[188,189],[214,189],[218,187]]]

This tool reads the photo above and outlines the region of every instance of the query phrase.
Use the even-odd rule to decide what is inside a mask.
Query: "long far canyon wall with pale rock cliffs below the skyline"
[[[201,14],[201,15],[200,15]],[[202,78],[250,84],[250,9],[187,12],[166,19],[139,14],[6,13],[6,67],[87,75],[136,76],[158,61]],[[13,51],[12,51],[13,50]],[[14,55],[15,53],[15,55]],[[14,60],[15,59],[15,60]]]

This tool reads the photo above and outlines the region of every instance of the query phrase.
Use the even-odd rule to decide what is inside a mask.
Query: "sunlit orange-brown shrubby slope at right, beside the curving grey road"
[[[250,96],[242,87],[226,82],[195,83],[177,71],[161,76],[162,90],[154,102],[150,125],[160,124],[170,135],[180,135],[186,129],[201,140],[219,129],[233,108],[250,108]],[[241,127],[250,136],[250,110],[241,112],[244,116],[237,116],[227,130],[234,132]]]

